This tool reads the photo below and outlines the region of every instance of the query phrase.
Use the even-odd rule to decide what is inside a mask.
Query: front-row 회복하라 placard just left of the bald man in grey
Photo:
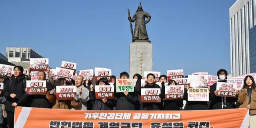
[[[56,86],[57,100],[74,100],[76,86]]]

